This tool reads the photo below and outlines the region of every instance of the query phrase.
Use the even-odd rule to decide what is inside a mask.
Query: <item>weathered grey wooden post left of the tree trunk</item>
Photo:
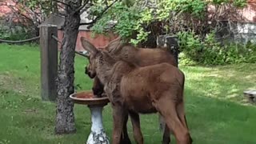
[[[58,36],[57,26],[40,26],[41,97],[44,101],[55,101],[57,98],[58,42],[52,35]]]

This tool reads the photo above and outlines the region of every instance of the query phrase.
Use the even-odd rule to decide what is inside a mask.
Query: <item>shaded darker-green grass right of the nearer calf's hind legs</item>
[[[206,98],[203,94],[186,88],[186,117],[194,143],[256,142],[254,106]]]

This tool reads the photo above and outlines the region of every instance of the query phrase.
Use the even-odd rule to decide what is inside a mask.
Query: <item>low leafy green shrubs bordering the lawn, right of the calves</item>
[[[193,31],[179,32],[179,46],[181,50],[180,62],[191,65],[225,65],[241,62],[256,62],[256,45],[248,42],[221,44],[215,39],[212,31],[201,39]]]

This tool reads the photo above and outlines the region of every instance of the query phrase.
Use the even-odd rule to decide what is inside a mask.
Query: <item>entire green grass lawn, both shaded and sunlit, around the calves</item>
[[[75,59],[75,85],[90,90],[86,60]],[[186,74],[186,117],[195,144],[256,143],[256,107],[243,90],[256,89],[256,64],[182,66]],[[55,135],[55,104],[40,98],[38,46],[0,44],[0,144],[84,143],[90,134],[90,111],[74,107],[76,134]],[[103,112],[106,133],[112,132],[110,106]],[[161,143],[158,115],[141,117],[145,143]],[[133,140],[129,123],[130,138]]]

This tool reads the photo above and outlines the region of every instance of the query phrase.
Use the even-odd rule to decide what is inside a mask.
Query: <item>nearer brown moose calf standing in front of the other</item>
[[[143,143],[138,113],[159,112],[166,121],[166,130],[174,132],[178,144],[190,144],[192,139],[186,125],[183,90],[184,74],[167,63],[138,67],[116,60],[104,50],[97,50],[84,38],[84,48],[90,52],[90,73],[98,76],[113,108],[112,140],[118,144],[127,113],[134,127],[134,138]]]

